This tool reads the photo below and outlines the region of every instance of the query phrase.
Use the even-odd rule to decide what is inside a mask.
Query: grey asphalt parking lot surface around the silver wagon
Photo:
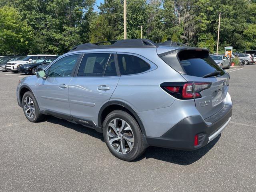
[[[0,72],[0,191],[256,191],[256,65],[229,69],[232,120],[195,151],[149,147],[134,162],[112,156],[102,134],[49,116],[29,122],[18,80]]]

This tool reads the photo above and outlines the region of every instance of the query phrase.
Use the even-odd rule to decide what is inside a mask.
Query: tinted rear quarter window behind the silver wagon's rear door
[[[118,65],[121,75],[142,73],[150,69],[150,65],[134,55],[118,54]]]

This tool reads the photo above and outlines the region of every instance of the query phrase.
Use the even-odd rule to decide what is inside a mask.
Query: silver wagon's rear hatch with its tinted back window
[[[208,50],[186,48],[171,54],[176,54],[182,68],[179,72],[188,82],[199,86],[202,82],[210,83],[208,88],[200,91],[200,96],[194,98],[202,117],[208,118],[221,110],[228,93],[229,75],[210,58]],[[171,62],[168,57],[170,55],[161,56],[167,64]]]

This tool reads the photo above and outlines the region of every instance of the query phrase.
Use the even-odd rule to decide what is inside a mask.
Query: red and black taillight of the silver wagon
[[[200,92],[211,86],[209,82],[167,82],[160,85],[166,92],[178,99],[194,99],[202,97]]]

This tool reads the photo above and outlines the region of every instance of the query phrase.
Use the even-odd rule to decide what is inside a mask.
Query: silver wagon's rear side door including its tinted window
[[[70,111],[76,122],[95,126],[101,106],[110,100],[120,78],[114,52],[84,54],[69,84]]]

